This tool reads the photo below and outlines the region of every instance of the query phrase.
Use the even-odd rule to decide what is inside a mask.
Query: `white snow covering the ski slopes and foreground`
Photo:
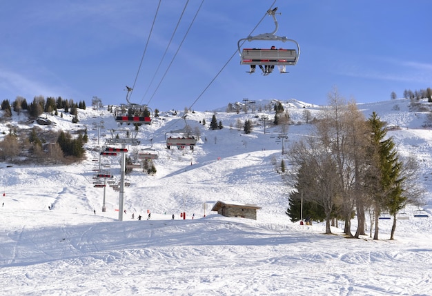
[[[400,110],[393,110],[395,104]],[[295,123],[302,121],[304,106],[314,116],[320,110],[293,99],[284,105]],[[157,173],[134,170],[126,177],[131,186],[125,188],[124,221],[117,221],[119,193],[109,187],[107,210],[101,212],[104,189],[92,184],[96,151],[88,150],[85,161],[68,166],[2,163],[1,294],[432,295],[432,132],[422,128],[426,114],[411,112],[408,105],[404,99],[359,105],[366,117],[375,111],[389,126],[399,126],[389,135],[400,154],[420,161],[429,217],[414,218],[418,208],[407,208],[410,219],[397,222],[393,241],[388,240],[391,220],[380,220],[378,241],[348,239],[342,226],[324,235],[324,224],[289,221],[284,211],[291,188],[277,172],[279,129],[267,126],[264,135],[258,121],[264,114],[273,119],[270,111],[217,112],[222,130],[199,123],[206,119],[208,127],[213,112],[189,113],[188,124],[202,133],[193,151],[165,148],[165,133],[184,127],[178,116],[161,112],[152,125],[140,127],[141,145],[128,148],[150,148],[153,139]],[[78,125],[66,114],[47,117],[57,123],[42,127],[47,130],[88,126],[88,148],[97,146],[93,123],[104,121],[106,139],[110,129],[119,128],[109,112],[90,108],[79,110]],[[237,119],[246,118],[256,121],[251,135],[235,129]],[[286,148],[307,129],[306,124],[290,126]],[[102,161],[119,176],[119,157]],[[262,209],[256,221],[222,217],[210,212],[219,200]],[[182,212],[186,219],[180,218]]]

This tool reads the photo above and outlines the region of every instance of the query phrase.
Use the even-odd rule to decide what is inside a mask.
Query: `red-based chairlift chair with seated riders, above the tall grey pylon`
[[[128,93],[126,94],[127,104],[121,104],[115,109],[115,121],[121,124],[151,124],[153,111],[147,105],[139,105],[130,103],[128,96],[132,88],[126,86]]]

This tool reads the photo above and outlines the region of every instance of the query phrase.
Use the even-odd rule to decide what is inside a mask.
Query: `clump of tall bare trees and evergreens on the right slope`
[[[326,221],[326,233],[337,219],[344,221],[348,237],[366,235],[369,213],[373,239],[378,239],[379,217],[393,216],[391,239],[397,214],[407,204],[420,204],[422,189],[415,176],[415,161],[402,161],[386,123],[373,112],[368,119],[354,101],[347,102],[337,90],[328,95],[328,106],[313,121],[313,131],[297,141],[288,152],[295,170],[294,188],[286,214],[299,221],[304,217]],[[287,178],[288,179],[288,178]],[[351,233],[351,219],[357,230]]]

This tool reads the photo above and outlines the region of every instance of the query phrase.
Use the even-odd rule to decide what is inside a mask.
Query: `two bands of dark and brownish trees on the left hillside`
[[[43,112],[58,115],[57,110],[74,115],[72,122],[77,123],[77,109],[86,109],[85,101],[74,103],[72,99],[38,96],[31,103],[17,97],[12,103],[8,99],[1,102],[3,120],[12,118],[12,110],[21,114],[26,112],[29,119],[39,117]],[[36,163],[66,163],[84,157],[84,144],[88,141],[87,130],[79,132],[76,139],[69,132],[46,132],[35,126],[29,130],[10,128],[8,135],[0,141],[0,157],[11,162],[24,161]],[[19,158],[18,158],[19,157]]]

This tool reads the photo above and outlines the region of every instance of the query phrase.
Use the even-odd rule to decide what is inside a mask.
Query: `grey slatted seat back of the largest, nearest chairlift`
[[[245,65],[295,65],[297,51],[293,49],[244,48],[242,64]]]

